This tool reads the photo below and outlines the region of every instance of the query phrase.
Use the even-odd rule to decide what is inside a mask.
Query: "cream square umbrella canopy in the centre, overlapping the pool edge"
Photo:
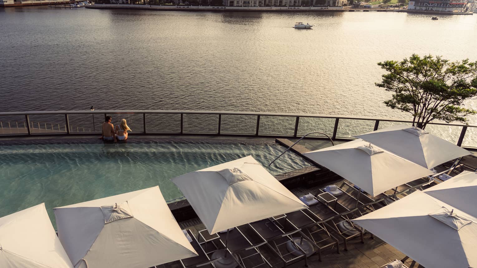
[[[172,181],[210,234],[308,208],[251,156]]]

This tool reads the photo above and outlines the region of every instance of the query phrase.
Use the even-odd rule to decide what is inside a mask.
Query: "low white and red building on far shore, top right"
[[[408,10],[466,12],[467,0],[416,0],[409,1]]]

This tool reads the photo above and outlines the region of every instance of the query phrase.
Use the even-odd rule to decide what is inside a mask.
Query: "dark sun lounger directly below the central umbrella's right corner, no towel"
[[[296,228],[301,229],[300,234],[308,238],[317,248],[319,260],[321,260],[321,252],[327,248],[336,247],[337,253],[340,253],[338,239],[328,232],[324,224],[317,223],[302,210],[287,213],[286,215],[287,219]]]

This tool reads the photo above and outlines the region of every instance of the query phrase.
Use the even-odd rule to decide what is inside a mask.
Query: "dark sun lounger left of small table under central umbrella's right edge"
[[[279,218],[268,218],[257,222],[248,224],[261,238],[268,241],[266,244],[281,260],[281,265],[284,267],[287,264],[305,259],[307,263],[306,253],[300,248],[293,235],[300,232],[291,222],[283,215]],[[288,246],[296,248],[296,250],[289,250]],[[271,265],[276,265],[270,262]]]

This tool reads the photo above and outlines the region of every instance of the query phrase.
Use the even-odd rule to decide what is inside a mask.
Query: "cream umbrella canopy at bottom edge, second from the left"
[[[145,268],[197,256],[158,186],[54,212],[75,268]]]

